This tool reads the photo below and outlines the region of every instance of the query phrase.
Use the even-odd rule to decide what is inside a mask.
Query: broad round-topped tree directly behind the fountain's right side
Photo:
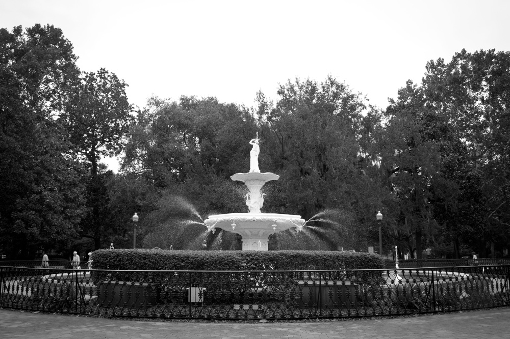
[[[269,211],[328,219],[311,223],[316,228],[307,230],[317,248],[366,248],[373,241],[360,229],[368,230],[366,221],[369,214],[375,215],[373,204],[379,197],[367,189],[371,179],[365,172],[364,115],[372,119],[377,109],[331,76],[320,83],[289,80],[277,94],[271,107],[259,93],[257,108],[259,120],[267,121],[270,131],[261,148],[272,160],[271,172],[281,176],[272,184],[277,195],[269,195]],[[270,243],[272,248],[288,248],[282,236],[273,240],[278,244]]]

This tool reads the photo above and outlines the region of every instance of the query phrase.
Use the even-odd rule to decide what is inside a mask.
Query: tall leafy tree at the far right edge
[[[422,84],[425,104],[444,117],[451,134],[461,141],[462,168],[449,175],[467,190],[464,198],[470,195],[467,192],[477,191],[477,209],[459,204],[459,212],[471,210],[467,219],[478,220],[478,226],[475,232],[465,232],[472,225],[463,223],[455,232],[475,235],[479,242],[472,245],[482,255],[489,250],[486,243],[495,256],[495,244],[501,249],[510,239],[509,86],[510,52],[494,49],[462,50],[448,64],[442,59],[430,61]]]

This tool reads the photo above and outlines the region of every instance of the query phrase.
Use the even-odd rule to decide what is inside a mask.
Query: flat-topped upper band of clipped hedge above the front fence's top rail
[[[94,269],[265,271],[379,269],[384,260],[366,252],[338,251],[192,251],[100,249],[92,254]]]

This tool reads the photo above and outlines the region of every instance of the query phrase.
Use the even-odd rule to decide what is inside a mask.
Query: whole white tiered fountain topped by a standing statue
[[[215,228],[237,233],[242,236],[243,250],[267,251],[269,236],[273,233],[282,232],[292,227],[301,231],[304,220],[299,215],[262,213],[264,193],[261,189],[264,184],[271,180],[278,180],[279,176],[274,173],[260,173],[259,170],[259,139],[251,139],[253,146],[250,151],[250,171],[248,173],[236,173],[231,177],[234,181],[242,181],[248,187],[246,194],[246,206],[248,213],[228,213],[210,215],[206,219],[207,228],[214,232]]]

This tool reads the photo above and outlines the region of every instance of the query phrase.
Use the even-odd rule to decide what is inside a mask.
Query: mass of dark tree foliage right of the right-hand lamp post
[[[377,147],[399,204],[394,235],[418,253],[425,242],[508,255],[509,86],[510,52],[463,50],[430,61],[386,109]]]

